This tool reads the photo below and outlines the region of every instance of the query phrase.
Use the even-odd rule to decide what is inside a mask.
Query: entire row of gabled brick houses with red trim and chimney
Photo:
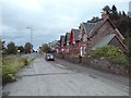
[[[72,28],[70,33],[60,36],[58,52],[84,56],[98,47],[112,45],[123,52],[128,48],[124,38],[105,13],[97,23],[83,22],[79,28]]]

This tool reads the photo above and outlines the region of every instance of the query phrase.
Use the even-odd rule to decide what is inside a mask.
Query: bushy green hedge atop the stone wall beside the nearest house
[[[100,58],[100,57],[109,58],[109,60],[114,64],[122,64],[122,65],[129,64],[127,56],[119,48],[115,46],[108,45],[100,48],[96,48],[94,51],[91,51],[88,54],[93,58]]]

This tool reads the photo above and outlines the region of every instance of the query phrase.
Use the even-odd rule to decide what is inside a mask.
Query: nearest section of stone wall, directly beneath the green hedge
[[[93,69],[97,69],[100,71],[109,72],[109,73],[115,73],[119,75],[129,75],[129,68],[126,65],[119,65],[119,64],[112,64],[110,60],[106,58],[84,58],[82,59],[82,64],[91,66]]]

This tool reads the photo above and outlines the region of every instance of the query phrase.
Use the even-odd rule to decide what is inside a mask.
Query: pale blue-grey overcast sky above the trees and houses
[[[124,1],[124,2],[123,2]],[[59,39],[60,35],[78,28],[80,23],[100,16],[105,5],[115,4],[118,10],[129,11],[130,0],[2,0],[0,5],[0,32],[2,38],[24,45],[31,40],[38,48],[44,42]]]

